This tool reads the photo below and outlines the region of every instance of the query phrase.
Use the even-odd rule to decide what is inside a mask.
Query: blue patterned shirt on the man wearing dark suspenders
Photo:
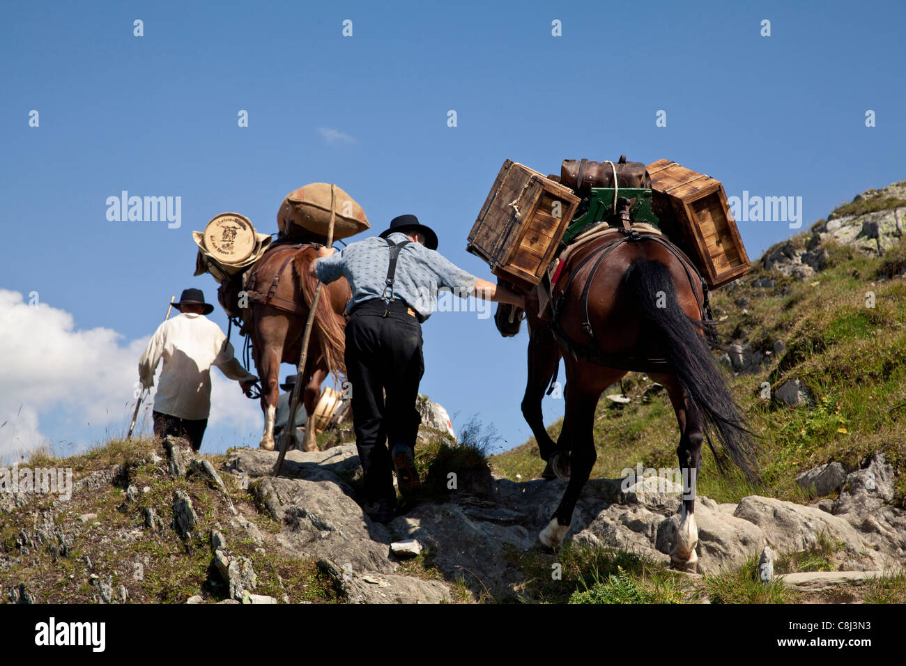
[[[390,240],[401,243],[409,240],[399,232]],[[390,266],[390,246],[379,237],[365,238],[333,256],[322,257],[314,265],[314,273],[324,283],[345,277],[352,287],[352,301],[346,309],[381,298],[384,295],[387,268]],[[410,242],[400,250],[396,274],[393,277],[393,297],[403,300],[427,319],[437,309],[438,291],[448,289],[465,298],[475,289],[477,277],[453,264],[435,250]],[[389,297],[389,292],[388,292]]]

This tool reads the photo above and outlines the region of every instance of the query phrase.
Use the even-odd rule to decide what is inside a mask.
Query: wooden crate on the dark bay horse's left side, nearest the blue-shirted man
[[[579,201],[572,189],[507,159],[469,232],[466,249],[487,261],[497,277],[535,286]]]

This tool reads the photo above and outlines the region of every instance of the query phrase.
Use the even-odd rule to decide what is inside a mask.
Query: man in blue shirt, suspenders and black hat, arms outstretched
[[[402,215],[381,236],[339,253],[321,248],[312,264],[322,282],[342,276],[352,287],[346,373],[352,384],[365,510],[379,522],[395,515],[393,469],[403,496],[419,487],[414,449],[421,422],[415,402],[425,371],[421,323],[433,312],[438,291],[525,306],[522,296],[470,275],[439,255],[437,247],[438,236],[430,227],[414,215]]]

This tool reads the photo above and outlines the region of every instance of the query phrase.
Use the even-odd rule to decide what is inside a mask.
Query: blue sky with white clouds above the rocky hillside
[[[216,299],[213,278],[192,277],[192,230],[236,211],[275,232],[282,198],[308,182],[345,188],[376,231],[418,215],[486,278],[466,236],[504,159],[544,173],[563,159],[674,159],[729,196],[802,197],[807,228],[906,178],[904,21],[901,3],[871,2],[6,3],[0,289],[19,294],[10,308],[36,292],[45,310],[0,313],[0,422],[19,429],[0,429],[0,454],[124,429],[129,363],[169,296],[197,286]],[[108,221],[121,190],[181,197],[181,227]],[[740,232],[753,259],[795,233],[786,221]],[[211,318],[226,330],[219,306]],[[46,340],[32,328],[52,325]],[[525,333],[439,313],[424,337],[422,392],[460,423],[494,424],[502,446],[522,443]],[[51,341],[63,361],[40,348]],[[205,450],[256,444],[260,410],[234,393],[215,385]],[[545,399],[545,420],[562,413]]]

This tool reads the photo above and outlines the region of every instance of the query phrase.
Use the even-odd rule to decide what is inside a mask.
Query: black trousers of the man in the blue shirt
[[[419,434],[415,403],[425,372],[421,324],[406,311],[402,301],[387,306],[374,299],[357,306],[346,324],[352,423],[365,500],[371,502],[395,497],[390,451],[398,445],[414,450]]]

